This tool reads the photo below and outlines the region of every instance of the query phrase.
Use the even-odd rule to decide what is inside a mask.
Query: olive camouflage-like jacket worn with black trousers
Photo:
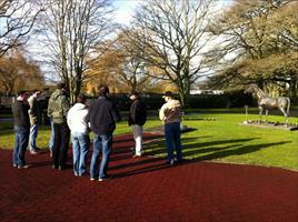
[[[69,100],[66,92],[57,89],[49,100],[48,117],[52,118],[53,123],[67,122],[67,113],[70,109]]]

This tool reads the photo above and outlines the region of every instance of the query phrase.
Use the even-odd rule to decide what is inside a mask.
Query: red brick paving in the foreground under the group
[[[0,221],[298,221],[298,173],[211,162],[167,167],[132,159],[130,137],[118,137],[109,181],[51,169],[49,153],[11,167],[0,150]]]

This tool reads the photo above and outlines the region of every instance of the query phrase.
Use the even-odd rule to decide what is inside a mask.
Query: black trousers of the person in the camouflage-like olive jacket
[[[67,152],[69,147],[70,130],[66,122],[53,123],[53,152],[52,160],[54,168],[64,169],[67,164]]]

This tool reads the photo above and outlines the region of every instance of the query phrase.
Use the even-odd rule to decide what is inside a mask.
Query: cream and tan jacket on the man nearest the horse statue
[[[161,107],[159,111],[159,119],[163,124],[181,122],[181,111],[182,108],[179,100],[170,99]]]

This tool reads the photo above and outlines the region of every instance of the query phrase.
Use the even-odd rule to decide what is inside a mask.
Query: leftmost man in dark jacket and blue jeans
[[[12,104],[13,124],[16,132],[16,145],[12,155],[13,167],[21,169],[28,168],[24,161],[24,153],[29,142],[30,121],[29,104],[27,102],[27,92],[20,91],[16,102]]]

